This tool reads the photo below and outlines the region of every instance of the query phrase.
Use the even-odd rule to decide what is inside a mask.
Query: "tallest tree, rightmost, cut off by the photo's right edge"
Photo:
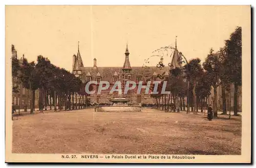
[[[237,27],[225,41],[226,59],[224,64],[234,84],[234,115],[238,115],[238,87],[242,86],[242,28]]]

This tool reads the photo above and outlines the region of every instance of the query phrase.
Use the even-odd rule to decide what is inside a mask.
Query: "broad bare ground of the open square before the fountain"
[[[13,153],[240,155],[241,116],[94,112],[45,112],[13,121]]]

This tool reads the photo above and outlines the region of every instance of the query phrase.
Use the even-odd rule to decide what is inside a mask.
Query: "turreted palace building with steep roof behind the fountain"
[[[97,66],[97,60],[94,58],[93,60],[93,67],[84,67],[81,54],[79,52],[79,45],[78,45],[78,52],[77,55],[73,55],[73,74],[76,77],[79,77],[83,82],[87,81],[97,81],[98,83],[102,81],[108,81],[110,82],[110,87],[108,90],[101,91],[101,94],[97,94],[95,92],[94,94],[90,95],[89,99],[91,103],[109,103],[109,98],[113,97],[113,95],[118,95],[118,92],[114,92],[113,94],[110,94],[110,90],[113,87],[114,83],[116,81],[122,82],[122,87],[125,85],[126,81],[135,81],[137,86],[140,81],[143,81],[143,85],[146,85],[146,81],[148,78],[153,81],[161,81],[161,80],[167,80],[169,76],[169,66],[164,66],[162,69],[152,66],[149,68],[145,67],[136,67],[131,66],[132,63],[130,63],[129,60],[129,49],[128,45],[126,44],[126,49],[124,52],[124,63],[123,66],[116,66],[116,67],[98,67]],[[173,58],[171,61],[171,64],[173,67],[180,66],[179,60],[179,52],[176,49],[173,53]],[[163,62],[163,58],[161,58],[159,61]],[[157,63],[156,63],[157,64]],[[164,75],[163,75],[164,73]],[[163,77],[159,77],[159,75],[163,75]],[[160,79],[162,78],[162,79]],[[144,91],[142,89],[141,94],[137,94],[137,86],[133,90],[129,90],[127,93],[127,98],[131,99],[131,104],[139,104],[139,103],[145,103],[145,104],[154,104],[156,103],[156,100],[150,96],[150,94],[144,94]],[[94,89],[97,90],[98,85],[94,85]],[[151,92],[151,91],[150,91]]]

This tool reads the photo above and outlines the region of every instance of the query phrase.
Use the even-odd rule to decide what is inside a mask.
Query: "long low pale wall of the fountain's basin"
[[[141,112],[140,106],[98,106],[99,112]]]

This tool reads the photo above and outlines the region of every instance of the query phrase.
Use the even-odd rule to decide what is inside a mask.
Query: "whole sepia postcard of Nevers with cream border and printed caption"
[[[6,162],[250,163],[250,6],[6,6]]]

